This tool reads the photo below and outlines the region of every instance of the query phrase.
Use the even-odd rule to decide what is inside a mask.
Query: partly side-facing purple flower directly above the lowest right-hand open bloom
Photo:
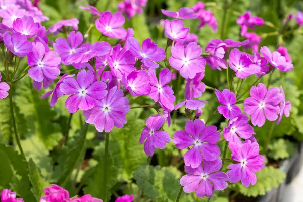
[[[248,124],[249,118],[245,114],[238,114],[228,122],[228,126],[223,128],[223,136],[228,142],[241,144],[241,139],[249,139],[255,135],[254,128]]]

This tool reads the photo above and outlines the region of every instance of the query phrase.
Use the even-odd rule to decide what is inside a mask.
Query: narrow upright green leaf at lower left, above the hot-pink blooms
[[[46,183],[46,181],[41,177],[38,168],[32,159],[29,159],[28,161],[28,171],[28,176],[32,184],[31,191],[37,201],[39,201],[40,197],[44,194],[44,188],[50,186],[50,184]]]

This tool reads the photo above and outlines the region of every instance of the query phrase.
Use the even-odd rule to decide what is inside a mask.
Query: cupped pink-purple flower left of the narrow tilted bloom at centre
[[[151,89],[149,82],[149,75],[144,70],[135,70],[122,77],[122,84],[129,90],[131,96],[148,95]]]

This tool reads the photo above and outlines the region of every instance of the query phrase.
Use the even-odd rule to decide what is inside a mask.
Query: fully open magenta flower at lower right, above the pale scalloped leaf
[[[243,144],[230,142],[228,145],[231,150],[231,159],[239,162],[228,166],[227,171],[229,181],[236,183],[241,180],[245,187],[255,185],[257,182],[255,172],[264,168],[265,158],[259,155],[259,145],[257,142],[251,143],[249,140]]]

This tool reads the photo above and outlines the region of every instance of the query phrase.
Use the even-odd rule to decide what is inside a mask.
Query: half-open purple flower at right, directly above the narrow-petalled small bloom
[[[260,66],[252,64],[249,57],[237,48],[232,49],[229,54],[229,66],[240,79],[260,72]]]

